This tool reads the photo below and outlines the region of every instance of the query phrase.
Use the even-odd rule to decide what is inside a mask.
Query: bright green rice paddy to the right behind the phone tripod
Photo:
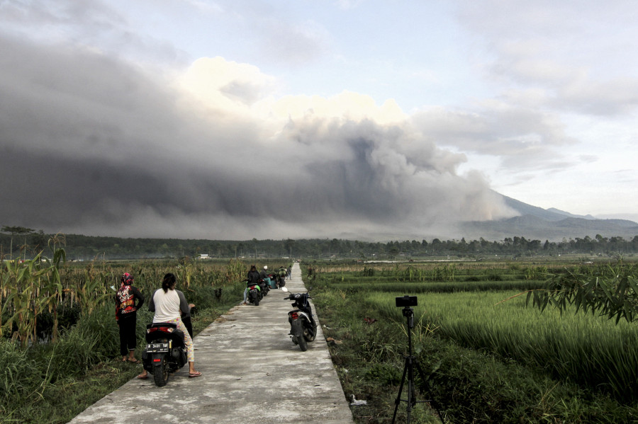
[[[396,292],[401,296],[403,292]],[[526,308],[517,292],[461,292],[419,297],[415,319],[471,348],[543,369],[552,377],[638,399],[638,328],[604,317]],[[392,294],[371,293],[366,302],[400,321]],[[575,311],[575,310],[573,310]]]

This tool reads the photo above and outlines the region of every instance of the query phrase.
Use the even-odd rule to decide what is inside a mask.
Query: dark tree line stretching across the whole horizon
[[[42,230],[24,227],[1,227],[0,258],[33,258],[43,252],[52,237],[64,243],[70,260],[104,260],[133,258],[352,258],[399,259],[427,256],[535,256],[579,253],[583,255],[631,255],[638,253],[638,235],[627,240],[621,236],[541,241],[522,236],[488,241],[482,237],[440,240],[422,239],[370,242],[347,239],[131,239],[80,234],[45,234]]]

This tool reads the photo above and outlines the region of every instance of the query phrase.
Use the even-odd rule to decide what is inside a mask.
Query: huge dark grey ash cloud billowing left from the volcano
[[[250,114],[201,108],[164,76],[100,52],[8,38],[0,50],[6,225],[210,239],[420,238],[512,213],[482,176],[457,175],[463,155],[409,122],[308,115],[272,132]],[[252,102],[252,90],[259,87],[230,90],[227,100]]]

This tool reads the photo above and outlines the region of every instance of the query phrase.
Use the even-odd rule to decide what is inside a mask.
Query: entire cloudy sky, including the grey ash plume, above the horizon
[[[0,224],[421,239],[638,221],[638,3],[0,0]]]

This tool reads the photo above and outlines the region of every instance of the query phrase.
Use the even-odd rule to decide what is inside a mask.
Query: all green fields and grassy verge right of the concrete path
[[[417,404],[413,423],[638,422],[638,327],[620,312],[635,305],[634,263],[303,268],[345,396],[367,401],[352,406],[357,423],[391,422],[408,350],[395,297],[405,294],[418,297],[413,345],[425,379],[416,373],[415,381],[418,400],[430,401]],[[608,295],[574,279],[597,281]],[[622,281],[625,306],[613,294]],[[405,402],[397,422],[405,422]]]

